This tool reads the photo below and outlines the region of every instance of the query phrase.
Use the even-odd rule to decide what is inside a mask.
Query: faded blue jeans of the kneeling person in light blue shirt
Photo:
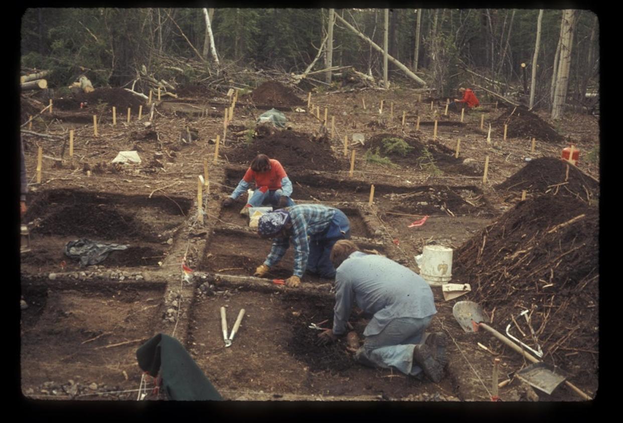
[[[355,353],[355,359],[366,366],[395,368],[404,374],[416,376],[422,369],[413,362],[413,349],[421,343],[430,320],[432,316],[392,320],[381,333],[366,336],[363,345]]]

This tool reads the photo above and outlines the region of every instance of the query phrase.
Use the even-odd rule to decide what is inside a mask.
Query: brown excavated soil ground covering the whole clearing
[[[254,91],[252,103],[240,101],[216,156],[214,140],[223,135],[229,98],[192,87],[175,101],[156,103],[149,125],[148,105],[139,121],[136,104],[129,123],[124,114],[112,124],[110,106],[118,113],[128,107],[115,97],[112,104],[104,103],[107,92],[125,92],[118,89],[95,90],[87,110],[72,103],[33,121],[32,132],[57,138],[23,134],[30,207],[24,224],[31,246],[20,264],[26,303],[21,311],[21,388],[27,397],[136,399],[139,386],[154,387],[151,378],[141,383],[136,348],[156,333],[166,333],[178,338],[226,399],[489,401],[492,361],[498,357],[500,381],[510,379],[500,389],[503,401],[582,401],[564,384],[548,395],[522,383],[515,376],[526,366],[519,354],[486,331],[460,328],[452,315],[460,300],[478,302],[493,328],[504,332],[511,324],[514,336],[536,348],[526,321],[518,318],[530,310],[543,361],[563,369],[590,396],[596,394],[599,184],[587,175],[598,176],[599,164],[587,159],[587,153],[599,145],[597,120],[569,115],[556,124],[562,128],[558,135],[581,151],[578,168],[570,166],[566,174],[559,159],[567,146],[563,139],[536,136],[534,152],[531,133],[509,131],[502,140],[503,123],[498,121],[508,120],[512,108],[475,110],[460,123],[460,115],[443,115],[445,99],[434,102],[431,110],[430,100],[419,102],[419,93],[407,89],[314,92],[312,103],[335,116],[331,137],[330,128],[323,130],[316,116],[292,111],[293,106],[307,108],[300,100],[307,92],[283,88],[269,83]],[[262,95],[257,101],[256,94]],[[45,98],[40,100],[22,101],[22,121],[47,105]],[[262,102],[266,104],[259,107]],[[165,110],[167,103],[181,106]],[[92,107],[100,118],[97,136]],[[281,107],[292,130],[263,138],[235,135],[254,129],[263,107]],[[480,128],[483,115],[485,127],[491,123],[494,129],[490,144]],[[515,115],[508,120],[509,130],[514,119],[526,117]],[[536,116],[547,120],[544,112]],[[418,117],[421,127],[416,130]],[[433,139],[433,126],[422,123],[435,119]],[[67,128],[75,130],[71,157]],[[196,136],[184,139],[191,129]],[[352,144],[353,133],[364,134],[363,146]],[[345,136],[350,143],[346,155]],[[380,148],[388,136],[414,150],[407,156],[385,154]],[[36,183],[39,146],[44,157],[41,183]],[[366,159],[366,151],[376,147],[391,165]],[[424,148],[440,173],[422,166]],[[138,151],[141,164],[110,163],[126,150]],[[291,249],[268,278],[250,276],[268,254],[270,241],[257,237],[240,217],[245,197],[229,209],[221,202],[257,153],[283,164],[295,201],[343,209],[353,239],[369,252],[418,272],[414,256],[424,245],[454,249],[450,282],[470,283],[472,292],[444,301],[441,289],[433,287],[438,313],[430,330],[444,331],[451,340],[447,376],[440,383],[356,364],[342,342],[316,346],[319,331],[308,326],[328,320],[321,326],[330,327],[331,281],[306,274],[296,289],[273,284],[271,279],[291,275]],[[199,175],[209,183],[202,186],[201,210]],[[429,216],[424,225],[408,227],[424,216]],[[79,237],[130,248],[113,252],[100,265],[80,268],[63,254],[65,244]],[[184,272],[183,265],[193,272]],[[222,341],[222,306],[228,306],[230,330],[240,308],[246,310],[230,348]],[[351,316],[361,340],[367,318]]]

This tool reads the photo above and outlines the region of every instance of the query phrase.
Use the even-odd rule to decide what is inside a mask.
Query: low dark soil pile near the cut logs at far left
[[[54,99],[54,107],[59,110],[77,110],[80,109],[80,103],[87,103],[87,107],[106,103],[116,107],[117,113],[126,112],[128,107],[138,110],[140,105],[145,105],[140,98],[123,88],[97,88],[90,93],[78,92],[69,98]]]

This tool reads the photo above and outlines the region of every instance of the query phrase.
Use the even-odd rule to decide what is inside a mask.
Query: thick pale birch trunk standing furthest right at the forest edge
[[[561,23],[561,44],[556,75],[556,88],[554,90],[554,102],[551,107],[551,118],[560,119],[563,116],[564,102],[567,97],[569,85],[569,68],[571,67],[571,48],[573,47],[573,32],[576,24],[577,11],[566,9],[563,11]]]

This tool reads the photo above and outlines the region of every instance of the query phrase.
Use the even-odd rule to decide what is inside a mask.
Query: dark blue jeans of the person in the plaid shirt
[[[350,239],[350,221],[341,210],[336,210],[326,231],[314,235],[309,240],[310,254],[307,258],[307,271],[318,273],[323,278],[334,278],[335,267],[329,257],[333,245],[340,239]]]

